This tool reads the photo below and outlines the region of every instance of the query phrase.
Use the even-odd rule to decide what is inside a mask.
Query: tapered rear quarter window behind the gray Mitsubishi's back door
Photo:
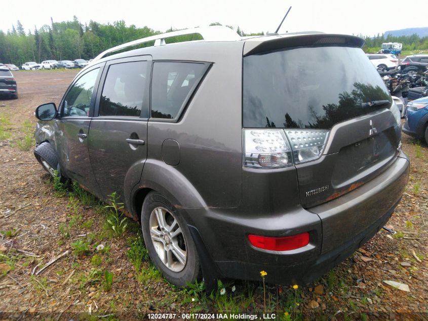
[[[207,68],[206,63],[154,62],[151,80],[151,117],[176,118]]]

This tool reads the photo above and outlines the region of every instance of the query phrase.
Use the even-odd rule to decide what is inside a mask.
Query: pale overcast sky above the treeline
[[[411,2],[412,12],[425,12],[426,0]],[[165,31],[173,28],[206,26],[211,22],[239,26],[244,32],[273,32],[289,6],[292,9],[280,32],[317,30],[324,32],[374,35],[386,30],[426,27],[426,19],[406,13],[407,5],[395,0],[15,0],[3,11],[0,29],[16,27],[20,20],[28,32],[34,25],[72,20],[73,15],[85,24],[91,19],[100,23],[125,20],[127,25],[148,26]]]

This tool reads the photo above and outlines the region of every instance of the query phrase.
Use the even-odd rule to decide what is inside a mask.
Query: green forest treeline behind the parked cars
[[[221,25],[218,22],[211,25]],[[234,27],[228,26],[235,30]],[[173,31],[172,28],[165,32]],[[246,34],[240,27],[236,32],[244,35],[258,35],[263,32]],[[147,26],[142,28],[135,25],[127,26],[124,20],[114,21],[112,24],[102,24],[91,20],[89,24],[82,24],[76,16],[72,21],[54,22],[51,18],[50,25],[34,30],[25,31],[18,20],[16,27],[12,26],[6,33],[0,30],[0,62],[13,63],[20,66],[26,61],[41,62],[43,60],[74,60],[78,58],[91,59],[102,51],[136,39],[149,37],[150,35],[162,33]],[[404,50],[426,50],[428,49],[428,37],[419,38],[416,34],[407,37],[388,37],[383,35],[366,37],[363,49],[366,52],[379,50],[382,42],[403,43]],[[199,35],[185,35],[169,39],[167,42],[188,41],[200,39]],[[147,46],[150,43],[142,45]]]

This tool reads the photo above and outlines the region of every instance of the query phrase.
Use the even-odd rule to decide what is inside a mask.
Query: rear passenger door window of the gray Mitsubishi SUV
[[[139,117],[144,99],[147,61],[110,65],[101,94],[99,116]]]

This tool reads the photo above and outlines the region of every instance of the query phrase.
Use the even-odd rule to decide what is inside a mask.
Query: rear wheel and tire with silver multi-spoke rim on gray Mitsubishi
[[[144,199],[141,228],[151,261],[169,282],[183,288],[199,278],[199,256],[187,224],[158,192]]]

